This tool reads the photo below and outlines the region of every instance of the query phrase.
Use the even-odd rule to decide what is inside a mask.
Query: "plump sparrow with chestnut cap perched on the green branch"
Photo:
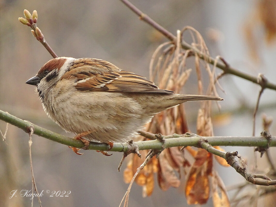
[[[143,76],[94,58],[54,58],[26,83],[36,86],[47,115],[84,142],[130,140],[165,109],[187,101],[223,100],[162,90]]]

